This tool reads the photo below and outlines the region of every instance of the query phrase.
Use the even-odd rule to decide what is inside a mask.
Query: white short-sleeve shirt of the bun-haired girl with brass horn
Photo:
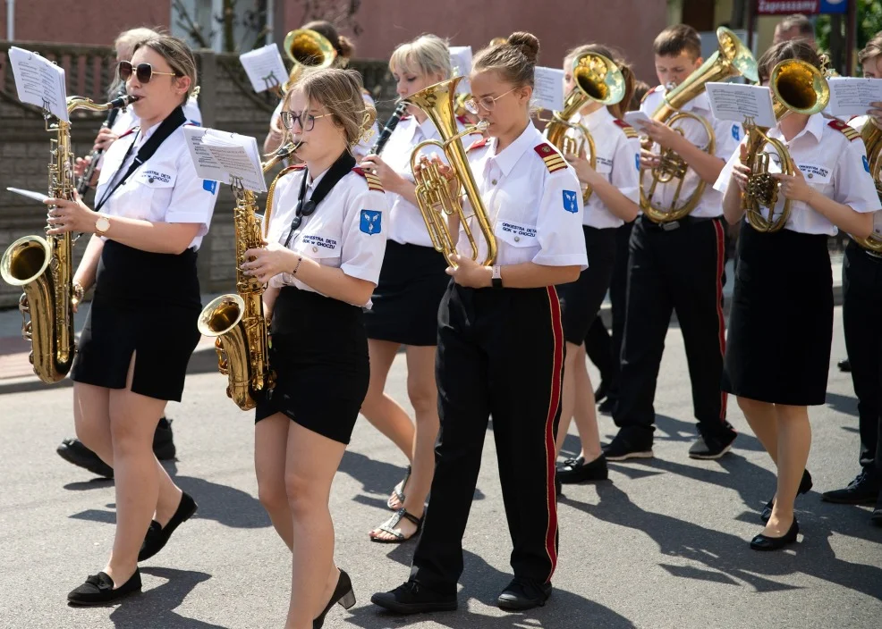
[[[579,179],[532,122],[498,155],[496,138],[472,144],[467,155],[496,237],[496,264],[588,268]],[[463,204],[471,214],[471,204],[467,200]],[[469,226],[481,262],[487,258],[487,243],[475,217],[469,219]],[[471,256],[462,226],[456,247],[461,256]]]

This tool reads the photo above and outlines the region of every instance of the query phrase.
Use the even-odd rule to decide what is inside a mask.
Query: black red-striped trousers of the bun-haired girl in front
[[[557,563],[555,436],[563,373],[564,331],[553,287],[467,289],[451,282],[438,310],[441,430],[414,581],[456,591],[491,415],[514,574],[550,581]]]

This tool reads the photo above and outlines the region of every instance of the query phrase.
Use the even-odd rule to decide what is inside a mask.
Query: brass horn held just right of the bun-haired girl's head
[[[585,150],[591,168],[597,168],[597,152],[594,138],[584,124],[572,123],[570,119],[579,112],[589,100],[602,105],[615,105],[624,96],[624,77],[612,61],[604,55],[588,53],[572,60],[572,80],[575,86],[564,100],[564,110],[555,112],[548,123],[548,141],[564,155],[579,155]],[[566,135],[566,131],[576,131],[576,138]],[[586,203],[593,190],[588,186],[582,193]]]

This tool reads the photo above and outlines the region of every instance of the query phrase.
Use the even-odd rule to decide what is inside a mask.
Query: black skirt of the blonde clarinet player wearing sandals
[[[432,247],[386,242],[377,289],[365,311],[368,338],[403,345],[437,345],[438,305],[450,276]]]

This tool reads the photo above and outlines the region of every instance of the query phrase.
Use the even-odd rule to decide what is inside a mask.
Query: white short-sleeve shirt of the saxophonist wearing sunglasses
[[[161,122],[146,131],[131,130],[107,149],[104,167],[98,177],[96,204],[104,199],[108,185],[128,171],[138,150],[156,132],[159,124]],[[129,155],[123,164],[127,152]],[[190,247],[199,249],[211,224],[216,193],[216,181],[202,180],[196,175],[182,126],[165,138],[156,153],[107,197],[99,211],[149,222],[199,223],[199,233],[190,243]]]

